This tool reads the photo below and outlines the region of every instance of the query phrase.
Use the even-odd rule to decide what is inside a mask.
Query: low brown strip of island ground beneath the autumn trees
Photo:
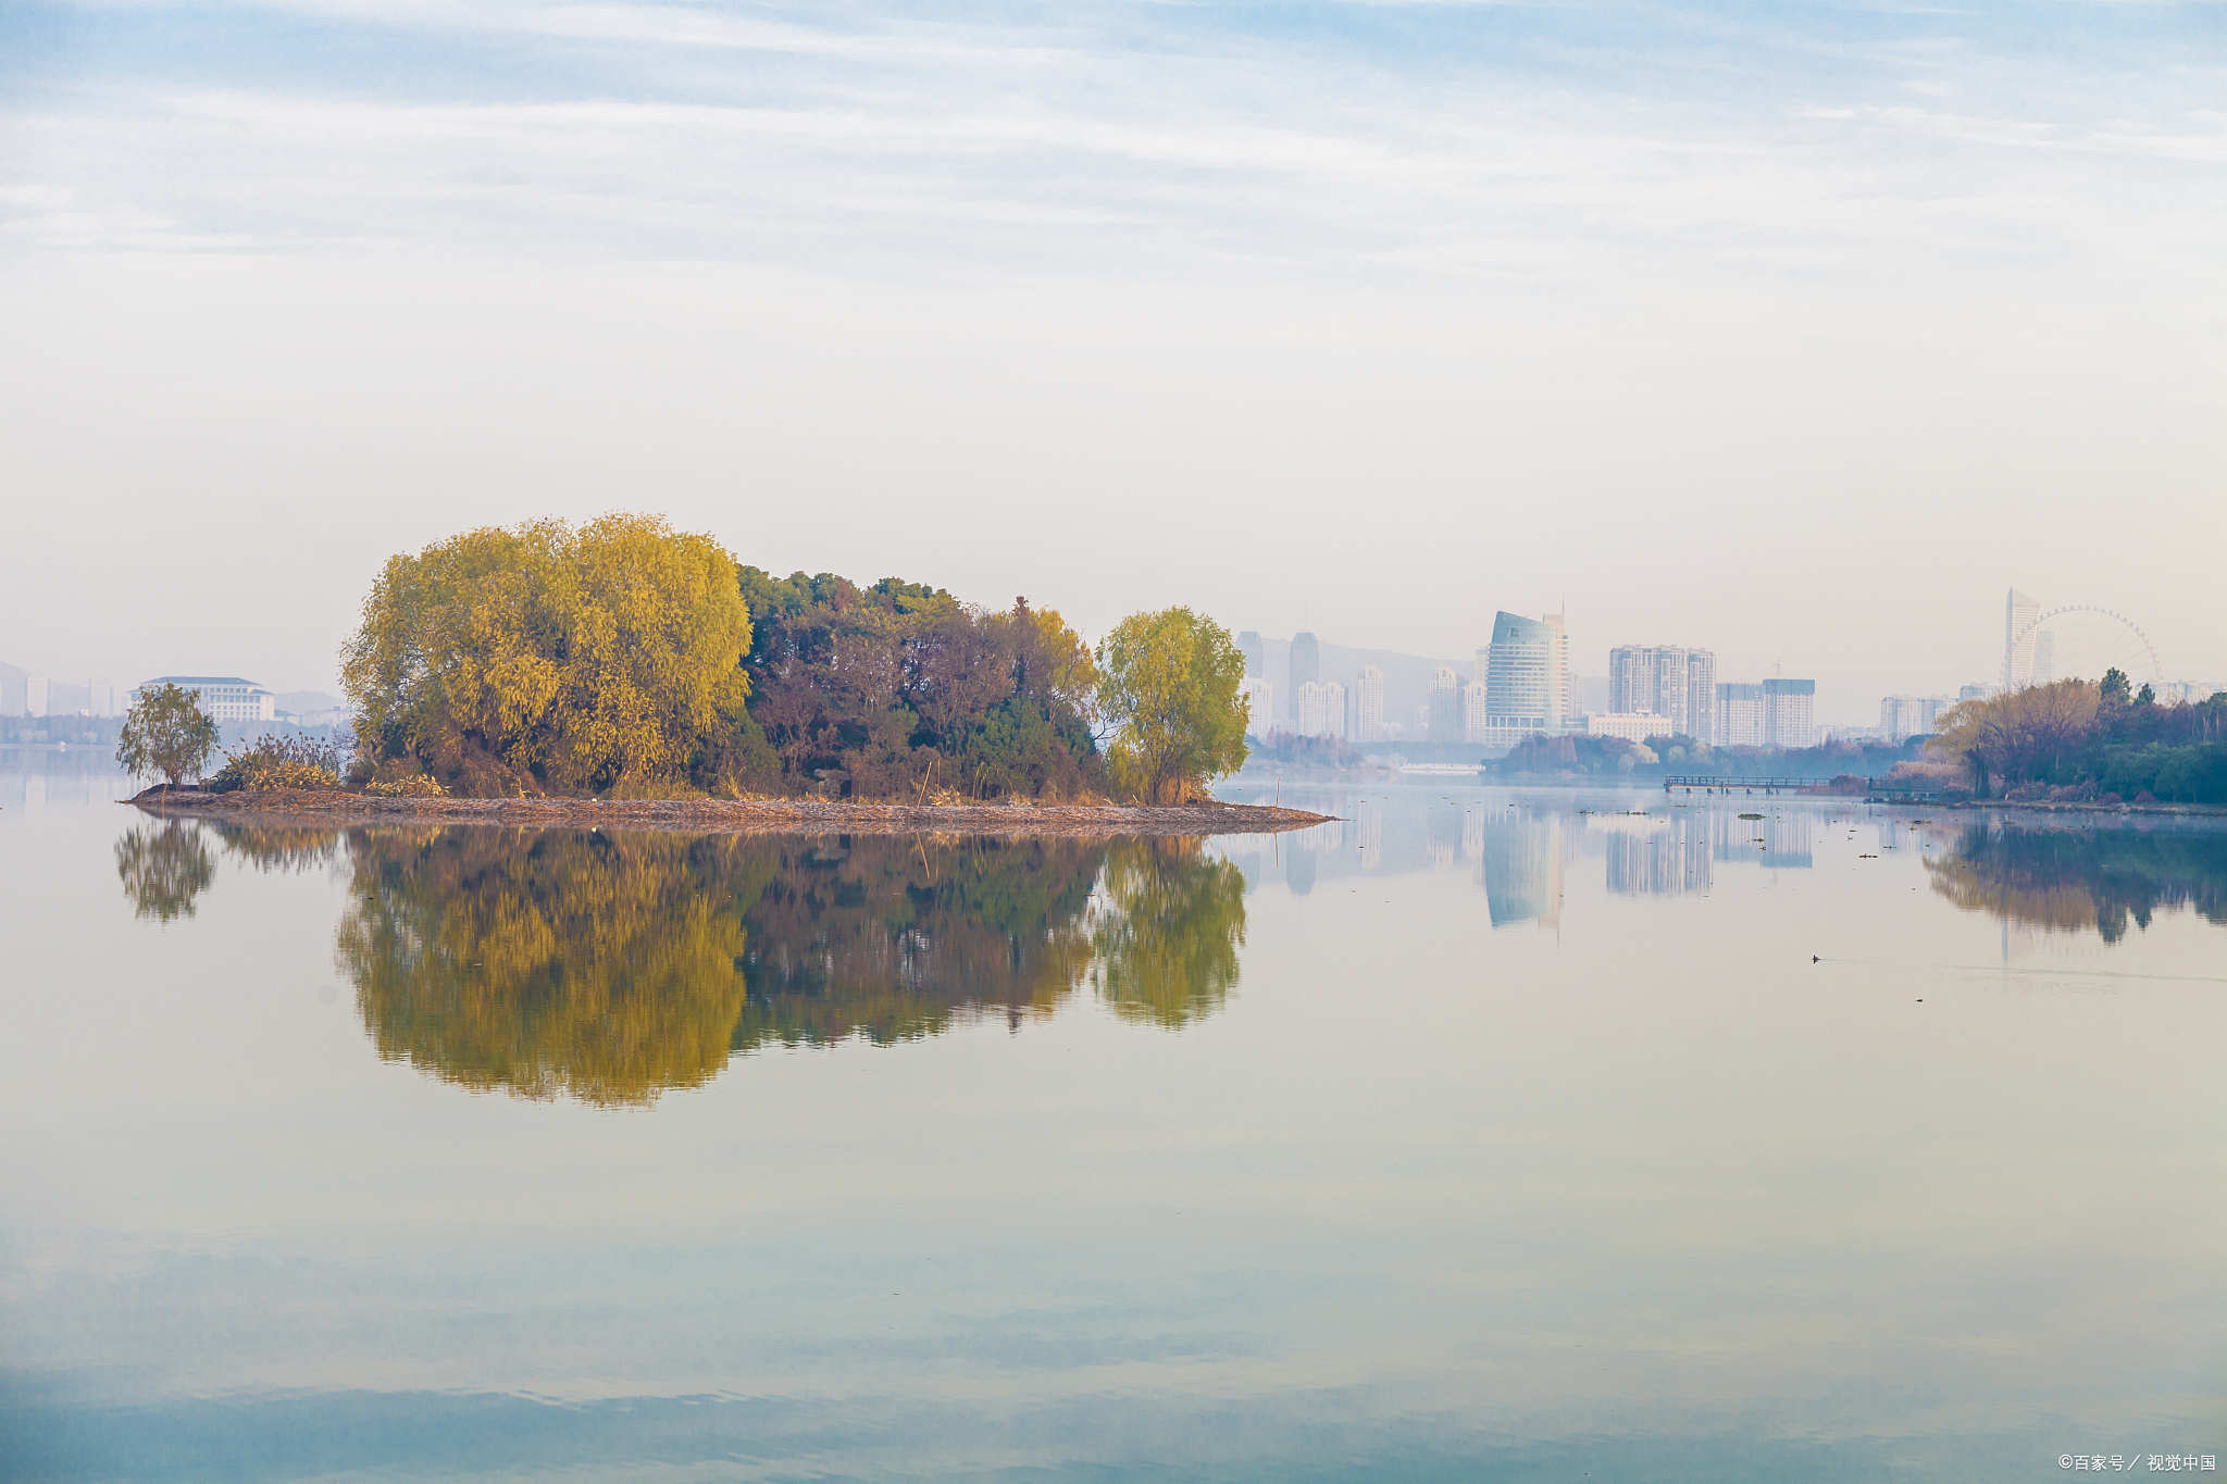
[[[759,834],[1274,834],[1332,814],[1263,803],[884,803],[848,799],[381,799],[336,790],[147,790],[149,814],[341,823],[481,823],[559,830]]]

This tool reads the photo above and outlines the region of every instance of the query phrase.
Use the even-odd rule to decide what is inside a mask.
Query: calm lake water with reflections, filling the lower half
[[[1430,781],[1203,848],[325,832],[33,765],[11,1480],[2227,1453],[2216,823]]]

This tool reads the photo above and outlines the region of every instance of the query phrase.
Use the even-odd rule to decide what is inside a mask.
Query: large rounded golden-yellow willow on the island
[[[661,516],[394,556],[341,654],[370,765],[468,794],[717,788],[746,730],[735,558]]]

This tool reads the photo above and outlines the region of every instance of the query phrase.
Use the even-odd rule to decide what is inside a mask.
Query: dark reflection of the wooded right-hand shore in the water
[[[2227,923],[2227,834],[2167,830],[2022,830],[1969,825],[1926,861],[1933,890],[1966,912],[2116,943],[2127,921],[2194,908]]]

